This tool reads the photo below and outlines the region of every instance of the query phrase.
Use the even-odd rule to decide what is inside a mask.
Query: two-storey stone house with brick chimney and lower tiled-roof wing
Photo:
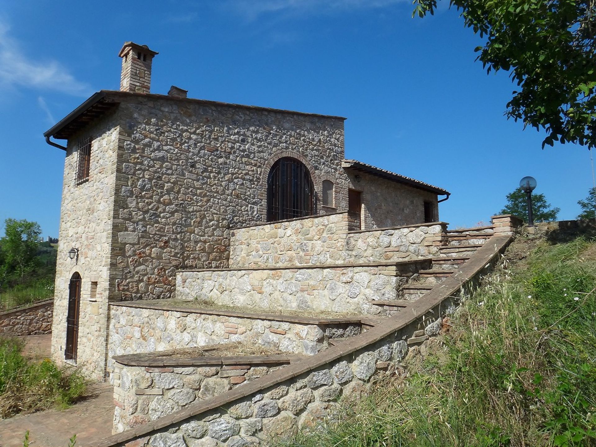
[[[182,271],[262,268],[269,257],[283,268],[344,265],[353,262],[350,247],[321,249],[341,239],[325,233],[329,225],[343,241],[350,231],[355,241],[359,232],[415,229],[438,222],[438,203],[449,197],[442,188],[346,160],[343,117],[197,100],[175,86],[167,95],[151,93],[156,55],[126,42],[120,91],[93,94],[44,134],[66,153],[52,356],[97,378],[109,370],[108,345],[116,336],[111,304],[180,299],[197,280]],[[250,246],[258,231],[246,228],[326,215],[300,229],[306,242],[295,241],[314,238],[325,256],[308,252],[310,246],[290,257],[275,257],[267,243]],[[412,250],[424,254],[418,246],[428,234],[418,233]],[[277,233],[271,239],[285,240]],[[359,253],[367,262],[376,256]],[[188,293],[212,293],[197,290]]]

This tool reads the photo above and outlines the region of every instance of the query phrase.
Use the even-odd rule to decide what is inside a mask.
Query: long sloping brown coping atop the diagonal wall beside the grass
[[[390,336],[390,334],[417,321],[427,312],[438,308],[444,300],[454,296],[455,293],[461,290],[462,285],[467,283],[467,281],[472,280],[478,274],[481,274],[485,268],[488,268],[488,266],[491,265],[491,262],[495,260],[499,254],[504,252],[505,248],[507,248],[512,240],[513,235],[506,234],[492,236],[483,246],[476,250],[470,257],[470,260],[464,263],[457,272],[445,278],[443,283],[434,287],[433,290],[429,291],[423,298],[413,302],[412,306],[405,308],[402,312],[390,316],[389,318],[378,319],[377,325],[359,336],[351,337],[350,339],[347,339],[336,346],[328,347],[328,349],[310,356],[301,362],[296,362],[295,364],[274,371],[271,374],[250,381],[244,386],[229,390],[205,401],[188,405],[187,408],[157,418],[150,423],[143,424],[134,429],[125,430],[125,432],[106,437],[103,440],[92,444],[92,447],[112,447],[128,440],[135,439],[136,437],[150,434],[155,430],[163,429],[190,417],[194,417],[197,414],[228,405],[238,399],[243,399],[246,398],[246,396],[259,393],[263,389],[275,386],[298,375],[308,373],[315,368],[322,367],[343,356],[376,343],[385,337]]]

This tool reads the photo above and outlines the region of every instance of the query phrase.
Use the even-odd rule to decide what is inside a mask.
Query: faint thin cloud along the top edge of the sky
[[[263,14],[330,14],[384,8],[409,0],[228,0],[224,4],[253,20]]]

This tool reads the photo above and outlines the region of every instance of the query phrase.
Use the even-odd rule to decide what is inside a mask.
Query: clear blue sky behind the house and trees
[[[482,41],[456,10],[411,13],[408,0],[0,0],[0,222],[57,237],[64,152],[42,134],[119,88],[125,41],[160,53],[154,93],[347,117],[346,158],[451,191],[452,228],[488,222],[526,175],[574,219],[589,151],[542,150],[544,134],[505,119],[514,86],[474,61]]]

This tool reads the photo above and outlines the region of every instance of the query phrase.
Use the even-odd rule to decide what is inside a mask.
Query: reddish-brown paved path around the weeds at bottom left
[[[36,359],[48,357],[49,337],[25,337],[24,353]],[[23,447],[26,430],[29,430],[31,447],[66,447],[75,433],[77,447],[110,436],[113,387],[107,383],[91,384],[86,394],[83,401],[63,411],[50,409],[0,420],[0,447]]]

